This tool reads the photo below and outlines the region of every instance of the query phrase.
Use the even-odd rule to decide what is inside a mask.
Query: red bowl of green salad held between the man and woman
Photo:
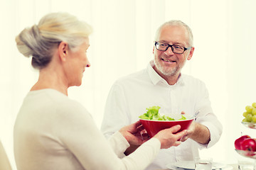
[[[181,129],[178,130],[178,132],[181,132],[182,130],[187,130],[191,125],[193,119],[187,119],[187,120],[139,119],[139,121],[142,123],[143,127],[146,129],[146,132],[149,134],[149,137],[154,137],[154,135],[156,135],[156,133],[158,133],[160,130],[171,128],[174,125],[181,125]]]

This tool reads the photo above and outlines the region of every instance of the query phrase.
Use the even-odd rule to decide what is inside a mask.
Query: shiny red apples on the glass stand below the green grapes
[[[235,140],[235,149],[256,152],[256,141],[249,135],[243,135]]]

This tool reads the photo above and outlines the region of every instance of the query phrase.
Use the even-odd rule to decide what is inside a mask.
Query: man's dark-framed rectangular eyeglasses
[[[191,47],[183,47],[181,45],[169,45],[164,42],[157,42],[155,41],[155,46],[157,50],[166,51],[169,47],[171,50],[176,54],[183,54],[184,51],[191,49]]]

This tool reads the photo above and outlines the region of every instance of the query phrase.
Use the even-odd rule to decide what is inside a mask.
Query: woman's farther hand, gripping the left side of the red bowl
[[[149,139],[149,135],[147,135],[146,130],[139,121],[125,126],[119,132],[129,142],[129,145],[142,145]]]

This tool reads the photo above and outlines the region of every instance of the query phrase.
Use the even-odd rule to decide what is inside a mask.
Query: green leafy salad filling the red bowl
[[[146,113],[143,115],[140,115],[139,118],[146,119],[146,120],[175,120],[174,118],[170,118],[168,115],[160,115],[159,109],[161,107],[159,106],[152,106],[149,108],[146,108]],[[178,120],[186,120],[184,115],[181,115],[181,118]]]

